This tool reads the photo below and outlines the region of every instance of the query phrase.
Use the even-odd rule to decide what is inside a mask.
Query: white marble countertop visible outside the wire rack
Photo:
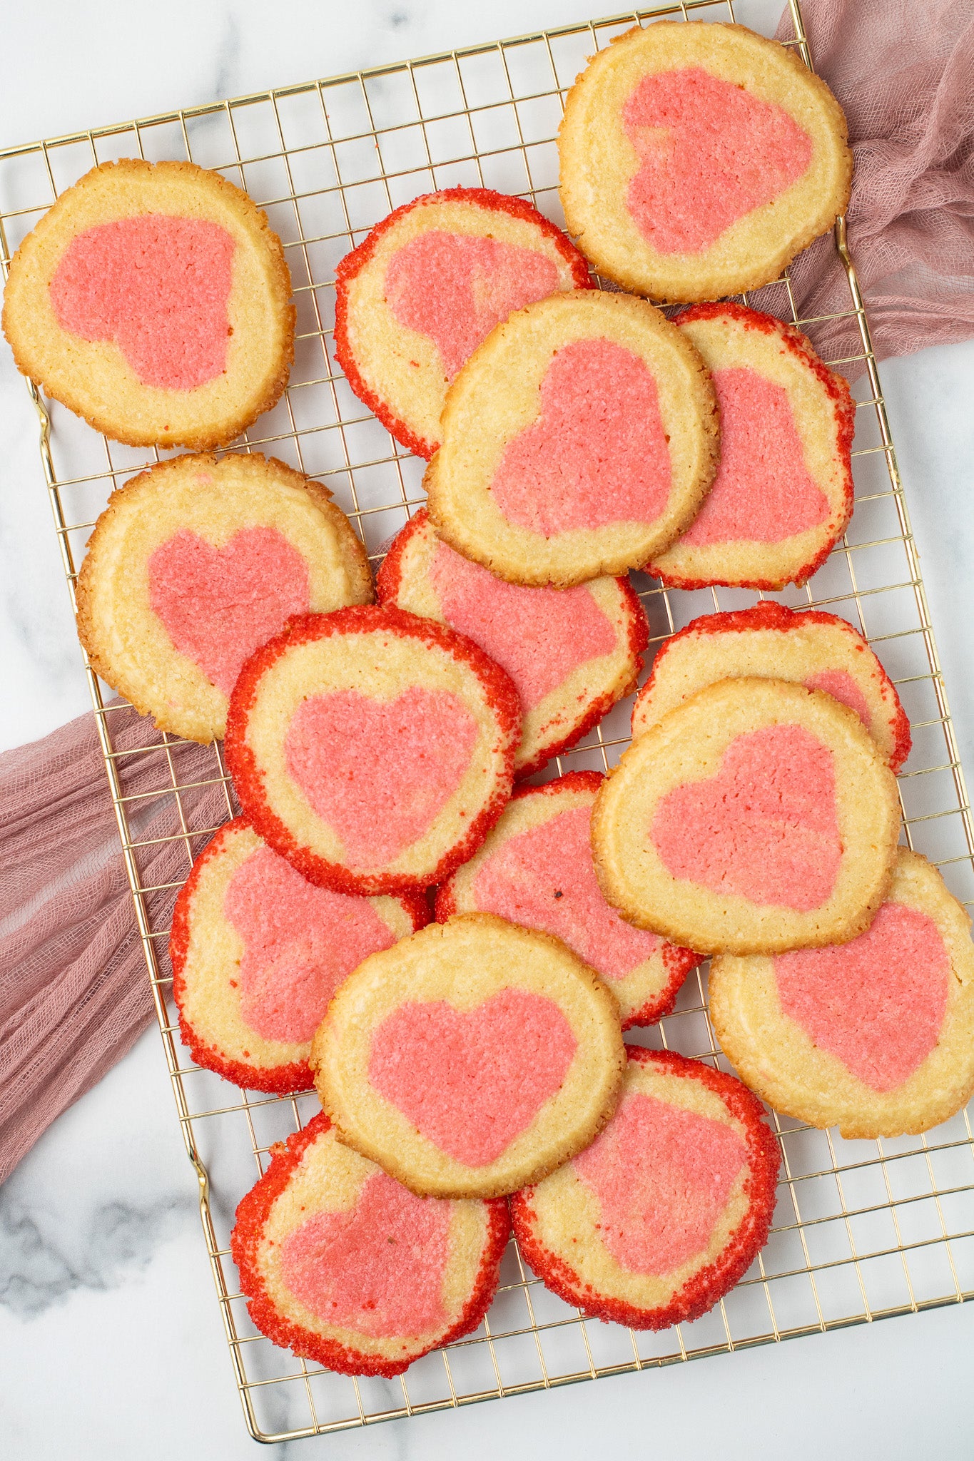
[[[919,0],[933,6],[933,0]],[[6,7],[0,146],[584,19],[591,0]],[[761,0],[771,29],[780,0]],[[765,15],[767,12],[767,15]],[[165,18],[165,19],[164,19]],[[882,368],[968,776],[974,342]],[[37,453],[0,351],[0,748],[88,709]],[[158,1036],[0,1189],[0,1435],[18,1461],[253,1455]],[[970,1458],[974,1305],[295,1442],[295,1455]],[[283,1448],[282,1448],[283,1449]]]

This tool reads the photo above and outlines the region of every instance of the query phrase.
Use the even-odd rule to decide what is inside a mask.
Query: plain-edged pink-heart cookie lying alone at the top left
[[[18,368],[129,446],[232,441],[288,383],[295,310],[280,240],[219,172],[104,162],[10,263]]]

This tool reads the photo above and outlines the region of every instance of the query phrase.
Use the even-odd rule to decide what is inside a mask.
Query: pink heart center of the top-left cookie
[[[145,386],[193,390],[226,370],[234,248],[203,218],[98,224],[64,250],[51,307],[63,330],[115,340]]]

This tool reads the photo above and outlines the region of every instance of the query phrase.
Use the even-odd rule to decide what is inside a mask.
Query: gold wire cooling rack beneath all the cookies
[[[555,134],[565,91],[586,57],[634,22],[663,15],[751,19],[756,29],[756,6],[758,0],[686,0],[0,152],[0,263],[6,275],[20,238],[96,162],[188,158],[247,188],[288,250],[298,340],[285,399],[234,450],[270,450],[326,482],[375,560],[383,541],[421,506],[423,463],[361,406],[334,362],[339,259],[391,207],[456,184],[520,193],[561,222]],[[790,10],[794,38],[789,44],[810,64],[796,0]],[[864,362],[867,384],[853,451],[856,513],[843,543],[806,589],[778,598],[794,606],[827,605],[878,647],[913,723],[913,755],[900,777],[905,840],[936,862],[952,891],[970,904],[970,808],[843,221],[835,241],[850,288],[843,317],[856,321],[862,349],[854,358]],[[772,313],[787,314],[790,307],[794,318],[787,278],[759,291],[756,300],[752,295],[752,302]],[[70,412],[32,394],[73,593],[77,562],[108,491],[152,459],[98,437]],[[657,644],[701,612],[742,608],[755,599],[724,589],[667,592],[648,579],[637,586]],[[165,1058],[199,1178],[226,1340],[256,1439],[342,1430],[974,1297],[968,1113],[926,1137],[892,1141],[843,1141],[772,1113],[783,1176],[770,1242],[743,1281],[694,1324],[634,1334],[587,1321],[542,1287],[511,1243],[483,1327],[419,1360],[399,1381],[333,1375],[276,1349],[248,1321],[228,1237],[234,1208],[264,1170],[270,1144],[299,1128],[317,1102],[311,1094],[279,1099],[237,1091],[193,1067],[178,1037],[168,916],[159,913],[168,910],[193,855],[215,831],[209,823],[235,811],[222,747],[199,751],[207,768],[200,773],[197,760],[188,777],[174,736],[159,744],[147,730],[134,741],[130,733],[123,754],[123,720],[115,717],[127,717],[131,726],[131,712],[107,703],[98,679],[88,674]],[[628,739],[628,703],[616,707],[583,745],[558,760],[558,771],[567,764],[615,764]],[[137,773],[140,789],[133,792]],[[172,814],[169,831],[147,836],[146,823],[164,808]],[[181,865],[165,882],[146,882],[146,858],[164,843],[175,849]],[[676,1011],[640,1037],[726,1068],[707,1017],[702,970],[688,980]]]

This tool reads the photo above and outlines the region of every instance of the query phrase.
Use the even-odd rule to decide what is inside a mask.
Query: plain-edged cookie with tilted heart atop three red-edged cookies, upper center
[[[685,330],[645,300],[556,294],[498,324],[453,381],[429,517],[511,583],[625,573],[689,527],[718,438]]]

